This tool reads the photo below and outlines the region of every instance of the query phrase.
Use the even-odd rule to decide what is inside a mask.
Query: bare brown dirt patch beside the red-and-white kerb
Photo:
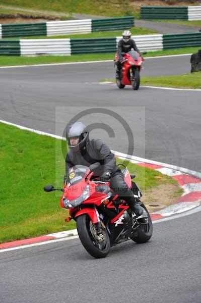
[[[166,183],[146,191],[142,201],[150,213],[160,211],[165,207],[177,203],[181,195],[181,187],[178,184]]]

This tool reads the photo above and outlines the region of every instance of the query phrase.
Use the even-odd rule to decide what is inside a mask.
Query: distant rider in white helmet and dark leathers
[[[116,61],[116,78],[120,79],[120,71],[121,71],[121,61],[123,60],[123,56],[121,53],[128,53],[131,51],[131,48],[134,51],[138,52],[141,56],[141,53],[136,45],[136,42],[133,39],[130,39],[131,32],[129,30],[124,30],[122,33],[122,39],[118,41],[117,47],[117,57],[118,60]],[[142,56],[141,56],[142,57]]]

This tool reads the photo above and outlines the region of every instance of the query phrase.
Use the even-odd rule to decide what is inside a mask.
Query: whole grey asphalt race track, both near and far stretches
[[[142,74],[189,70],[189,56],[158,58],[146,60]],[[120,90],[97,83],[113,77],[112,62],[0,69],[0,119],[61,135],[80,111],[113,109],[134,133],[135,156],[200,171],[201,92]],[[126,151],[127,138],[113,117],[83,119],[112,122],[115,138],[97,134],[112,149]],[[79,239],[0,252],[0,301],[200,303],[200,242],[196,213],[154,224],[148,243],[119,244],[100,260],[90,257]]]

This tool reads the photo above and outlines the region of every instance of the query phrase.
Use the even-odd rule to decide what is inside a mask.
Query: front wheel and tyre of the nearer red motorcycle
[[[79,216],[76,222],[79,238],[89,254],[95,258],[106,257],[110,249],[108,233],[103,230],[98,236],[95,225],[87,214]]]

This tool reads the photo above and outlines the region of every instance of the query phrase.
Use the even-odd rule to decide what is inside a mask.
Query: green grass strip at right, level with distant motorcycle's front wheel
[[[115,82],[115,79],[101,79],[100,82]],[[160,77],[141,77],[141,85],[201,89],[201,72]]]

